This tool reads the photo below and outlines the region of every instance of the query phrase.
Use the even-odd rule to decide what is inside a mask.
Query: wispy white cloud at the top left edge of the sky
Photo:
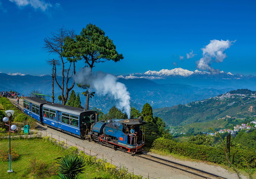
[[[16,3],[16,5],[18,5],[19,8],[26,5],[31,5],[35,9],[40,8],[42,11],[45,11],[48,7],[52,7],[50,3],[46,3],[40,0],[9,0],[9,1]]]

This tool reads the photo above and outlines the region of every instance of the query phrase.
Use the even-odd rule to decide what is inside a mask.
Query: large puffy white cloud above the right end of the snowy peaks
[[[212,62],[223,62],[223,60],[227,57],[226,53],[223,52],[224,50],[230,48],[230,46],[233,45],[232,42],[235,43],[236,40],[211,40],[207,46],[201,49],[203,51],[203,57],[200,60],[196,61],[197,68],[202,70],[208,70],[213,74],[219,73],[219,69],[214,69],[213,67],[211,67],[211,64]]]

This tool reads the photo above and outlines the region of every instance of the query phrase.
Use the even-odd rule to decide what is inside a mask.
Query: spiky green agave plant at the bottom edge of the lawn
[[[82,157],[75,154],[67,154],[59,160],[59,179],[76,179],[79,174],[84,173],[85,162]]]

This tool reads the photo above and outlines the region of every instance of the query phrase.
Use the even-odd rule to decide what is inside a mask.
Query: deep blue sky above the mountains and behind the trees
[[[255,8],[256,1],[0,0],[0,72],[51,74],[45,60],[55,56],[42,50],[43,39],[62,26],[79,34],[92,23],[124,56],[117,63],[97,64],[94,71],[115,75],[179,67],[194,71],[195,62],[203,58],[202,49],[216,39],[236,42],[222,49],[227,57],[211,61],[212,68],[256,76]],[[192,50],[197,55],[187,59]],[[77,68],[83,66],[77,63]]]

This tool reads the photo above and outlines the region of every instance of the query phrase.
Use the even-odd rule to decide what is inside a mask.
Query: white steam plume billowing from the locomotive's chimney
[[[95,75],[91,75],[91,68],[85,67],[80,69],[74,76],[76,83],[82,85],[89,85],[89,90],[95,91],[97,95],[112,96],[116,101],[116,107],[119,110],[123,110],[128,118],[130,119],[131,108],[130,108],[130,93],[127,91],[127,87],[120,82],[117,82],[117,77],[98,71]]]

